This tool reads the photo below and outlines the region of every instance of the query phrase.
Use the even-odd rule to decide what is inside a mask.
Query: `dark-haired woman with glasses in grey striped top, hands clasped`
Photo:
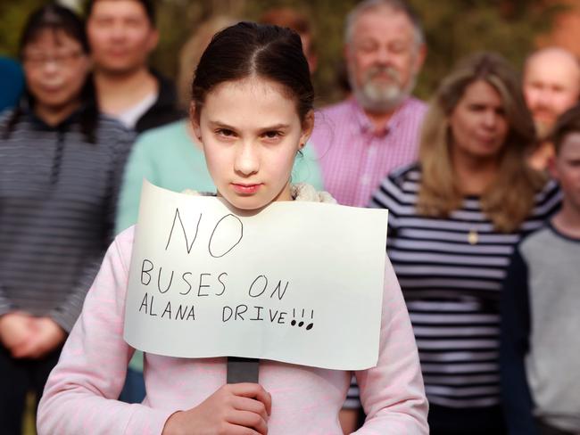
[[[21,433],[111,242],[132,137],[95,108],[84,24],[49,5],[21,37],[27,94],[0,118],[0,427]]]

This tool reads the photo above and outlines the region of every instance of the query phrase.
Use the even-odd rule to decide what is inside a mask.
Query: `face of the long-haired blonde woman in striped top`
[[[509,128],[500,94],[483,80],[466,87],[449,125],[452,154],[472,160],[496,160]]]

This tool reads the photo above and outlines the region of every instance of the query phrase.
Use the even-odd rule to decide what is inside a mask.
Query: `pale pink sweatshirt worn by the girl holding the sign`
[[[104,257],[37,414],[39,435],[161,434],[170,414],[199,405],[226,383],[226,359],[145,354],[147,397],[116,400],[135,349],[123,341],[133,227]],[[356,373],[367,421],[357,434],[427,434],[427,399],[402,293],[387,261],[378,365]],[[262,360],[261,385],[272,395],[269,433],[340,434],[337,414],[350,372]]]

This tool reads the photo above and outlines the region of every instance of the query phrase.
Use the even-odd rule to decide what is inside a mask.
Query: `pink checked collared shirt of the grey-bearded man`
[[[372,194],[394,168],[417,160],[418,135],[427,105],[408,98],[384,132],[350,98],[318,113],[311,144],[319,156],[325,189],[338,203],[369,205]]]

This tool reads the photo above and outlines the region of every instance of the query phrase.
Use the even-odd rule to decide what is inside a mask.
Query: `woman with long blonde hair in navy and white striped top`
[[[559,206],[526,166],[534,123],[518,78],[494,53],[437,90],[419,162],[372,201],[389,209],[387,250],[417,339],[431,433],[505,433],[498,366],[501,283],[514,245]]]

